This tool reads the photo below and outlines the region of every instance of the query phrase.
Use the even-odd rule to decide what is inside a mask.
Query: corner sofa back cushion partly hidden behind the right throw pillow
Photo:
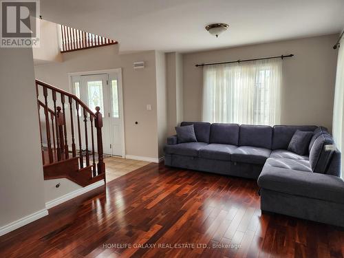
[[[295,131],[314,131],[315,125],[275,125],[272,129],[272,149],[288,149]]]

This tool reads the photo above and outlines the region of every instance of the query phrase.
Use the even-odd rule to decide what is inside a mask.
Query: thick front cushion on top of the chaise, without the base
[[[344,204],[344,181],[334,175],[265,165],[258,185],[280,193]]]

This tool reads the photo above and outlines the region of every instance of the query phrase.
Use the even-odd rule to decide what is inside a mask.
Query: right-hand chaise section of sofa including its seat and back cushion
[[[325,148],[334,143],[327,131],[320,128],[313,136],[308,160],[298,157],[266,161],[257,181],[261,210],[343,227],[341,153]]]

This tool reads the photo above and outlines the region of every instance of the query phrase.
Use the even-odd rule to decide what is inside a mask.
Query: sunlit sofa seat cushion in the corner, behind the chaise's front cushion
[[[290,158],[268,158],[264,166],[273,166],[281,169],[294,169],[298,171],[312,172],[308,160],[292,160]]]

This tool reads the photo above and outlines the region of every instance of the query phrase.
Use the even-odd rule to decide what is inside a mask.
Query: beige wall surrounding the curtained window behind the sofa
[[[201,120],[202,67],[237,59],[294,54],[283,60],[281,123],[332,128],[337,34],[184,54],[184,120]]]

